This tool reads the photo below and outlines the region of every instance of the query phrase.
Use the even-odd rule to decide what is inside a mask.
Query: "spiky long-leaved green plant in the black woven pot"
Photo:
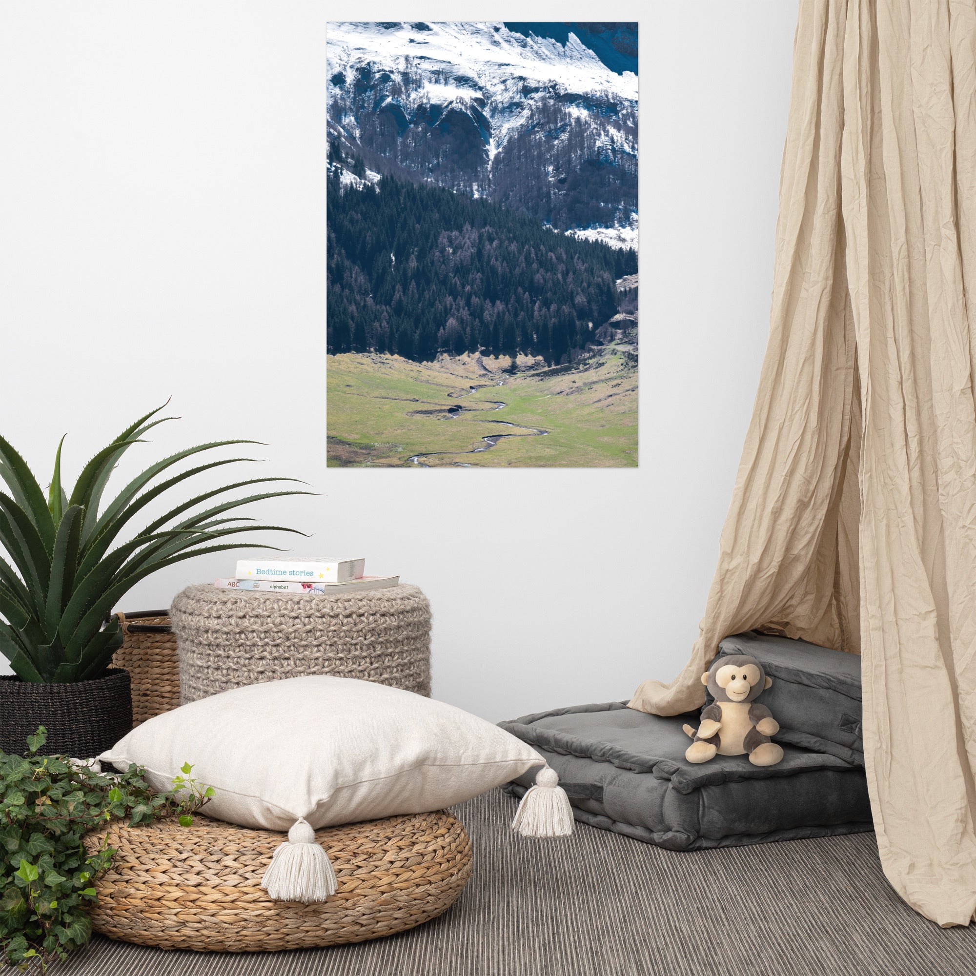
[[[254,529],[296,532],[229,514],[267,498],[311,494],[287,488],[226,497],[267,482],[296,481],[262,477],[196,495],[130,535],[139,512],[170,489],[203,471],[256,460],[208,460],[158,480],[186,458],[257,441],[199,444],[146,468],[111,502],[103,503],[106,484],[122,455],[142,443],[147,430],[176,419],[158,417],[164,407],[146,414],[102,448],[82,470],[70,495],[61,485],[63,437],[47,498],[20,454],[0,437],[0,479],[10,490],[9,495],[0,491],[0,546],[7,554],[0,557],[0,617],[6,621],[0,620],[0,652],[22,680],[56,683],[99,677],[122,646],[118,620],[109,613],[144,577],[204,552],[277,549],[246,540],[215,542],[228,536]]]

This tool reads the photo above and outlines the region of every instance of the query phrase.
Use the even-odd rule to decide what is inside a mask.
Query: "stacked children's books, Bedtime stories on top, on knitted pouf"
[[[398,576],[364,576],[365,559],[238,559],[232,580],[215,580],[221,590],[279,593],[347,593],[395,587]]]

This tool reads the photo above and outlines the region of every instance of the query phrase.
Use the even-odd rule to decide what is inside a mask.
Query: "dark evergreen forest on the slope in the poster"
[[[631,251],[484,199],[384,177],[328,181],[328,348],[430,360],[483,349],[559,362],[617,314]]]

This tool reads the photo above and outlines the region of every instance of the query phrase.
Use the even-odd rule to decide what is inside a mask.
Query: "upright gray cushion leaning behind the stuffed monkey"
[[[858,655],[754,630],[726,637],[719,645],[722,653],[752,654],[773,679],[759,701],[780,723],[773,738],[781,746],[829,752],[864,765]]]

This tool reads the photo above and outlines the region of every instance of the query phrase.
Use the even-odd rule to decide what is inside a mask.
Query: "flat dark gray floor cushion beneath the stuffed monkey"
[[[623,702],[525,715],[503,728],[543,754],[577,820],[672,850],[873,829],[864,771],[834,755],[783,747],[775,766],[744,755],[693,764],[681,729]],[[508,785],[521,795],[536,770]]]

